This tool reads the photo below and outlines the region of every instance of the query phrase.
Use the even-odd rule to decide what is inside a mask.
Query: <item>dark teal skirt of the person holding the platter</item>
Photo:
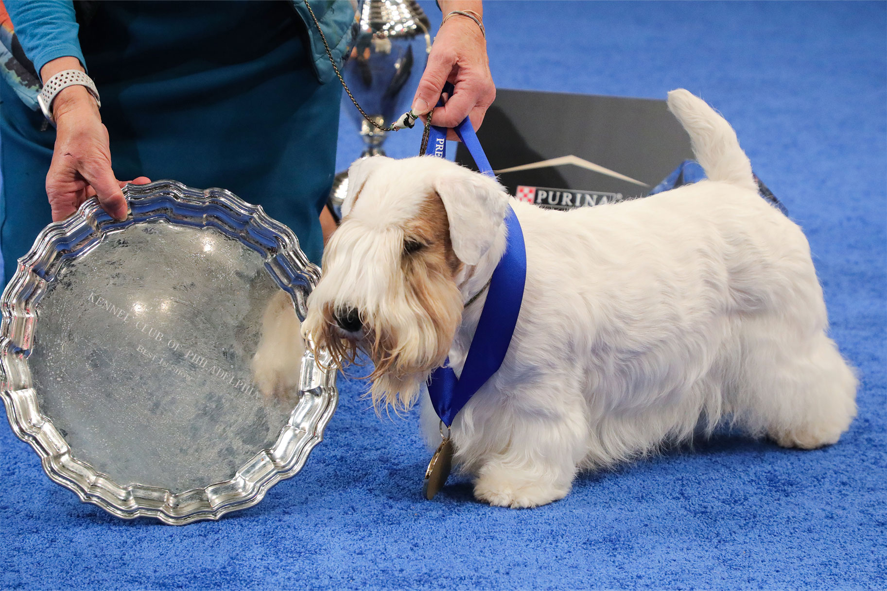
[[[114,174],[232,191],[292,228],[318,262],[333,183],[341,85],[320,84],[285,2],[99,3],[80,39],[102,98]],[[55,141],[0,82],[6,280],[51,222]]]

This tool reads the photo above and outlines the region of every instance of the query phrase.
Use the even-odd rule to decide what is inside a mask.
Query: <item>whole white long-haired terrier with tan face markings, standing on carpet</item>
[[[478,499],[553,502],[577,470],[727,419],[812,449],[835,443],[856,413],[856,378],[826,334],[801,229],[758,196],[726,121],[686,90],[668,104],[710,180],[624,203],[544,210],[430,156],[349,170],[302,330],[340,362],[364,349],[377,404],[410,407],[447,357],[459,376],[486,294],[463,305],[503,253],[506,204],[521,222],[514,338],[452,424]],[[429,400],[422,422],[439,442]]]

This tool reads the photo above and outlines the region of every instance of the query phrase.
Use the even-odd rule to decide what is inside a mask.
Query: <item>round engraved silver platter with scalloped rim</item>
[[[127,185],[40,233],[0,300],[0,388],[43,470],[119,517],[182,525],[302,469],[338,394],[298,335],[319,270],[228,191]],[[297,317],[298,316],[298,317]]]

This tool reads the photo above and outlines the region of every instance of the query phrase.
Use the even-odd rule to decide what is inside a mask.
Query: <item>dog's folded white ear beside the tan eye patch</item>
[[[443,175],[435,191],[450,222],[453,253],[459,261],[476,265],[502,225],[508,194],[495,180],[467,169]]]

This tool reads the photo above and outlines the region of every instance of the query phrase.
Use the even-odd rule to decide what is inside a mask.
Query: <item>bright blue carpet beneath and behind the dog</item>
[[[502,88],[662,98],[686,87],[733,123],[810,238],[833,336],[860,369],[860,415],[836,446],[798,452],[727,434],[579,478],[540,509],[492,509],[465,481],[424,502],[415,414],[381,420],[357,400],[365,385],[341,380],[340,408],[301,474],[220,523],[169,527],[82,505],[0,429],[0,587],[887,587],[885,13],[883,3],[486,7]],[[340,167],[359,153],[351,126],[343,118]],[[389,154],[418,150],[411,133]]]

